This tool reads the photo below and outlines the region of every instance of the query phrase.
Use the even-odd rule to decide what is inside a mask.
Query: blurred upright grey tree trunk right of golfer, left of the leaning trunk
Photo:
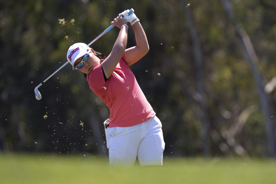
[[[198,104],[200,106],[199,119],[201,122],[201,139],[203,156],[210,156],[209,125],[206,116],[206,97],[203,84],[203,59],[201,45],[193,22],[193,16],[190,7],[186,7],[187,1],[184,0],[186,21],[189,25],[191,41],[193,46],[193,57],[196,67],[196,91],[199,94]]]

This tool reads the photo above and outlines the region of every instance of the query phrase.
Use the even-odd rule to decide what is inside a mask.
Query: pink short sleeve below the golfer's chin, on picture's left
[[[92,87],[100,90],[104,86],[106,81],[104,80],[104,74],[103,74],[101,64],[93,68],[91,73],[87,75],[87,81],[90,88]]]

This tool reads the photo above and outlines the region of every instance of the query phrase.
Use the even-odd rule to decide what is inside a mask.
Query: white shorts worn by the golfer
[[[110,166],[133,166],[136,158],[141,166],[162,165],[165,143],[162,124],[154,116],[130,127],[105,128]]]

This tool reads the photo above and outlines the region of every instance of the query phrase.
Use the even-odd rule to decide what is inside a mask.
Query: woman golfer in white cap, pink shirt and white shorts
[[[75,43],[67,59],[73,70],[87,75],[90,89],[110,109],[110,118],[104,123],[110,166],[133,166],[137,157],[141,166],[162,165],[165,143],[161,122],[128,67],[149,51],[149,45],[139,19],[128,12],[111,22],[121,30],[107,58],[100,59],[85,43]],[[127,22],[133,26],[137,43],[128,49]]]

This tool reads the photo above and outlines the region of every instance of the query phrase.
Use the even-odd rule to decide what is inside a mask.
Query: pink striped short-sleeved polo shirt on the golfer
[[[90,89],[110,109],[109,127],[128,127],[147,121],[155,112],[148,103],[123,55],[105,82],[101,64],[87,75]]]

